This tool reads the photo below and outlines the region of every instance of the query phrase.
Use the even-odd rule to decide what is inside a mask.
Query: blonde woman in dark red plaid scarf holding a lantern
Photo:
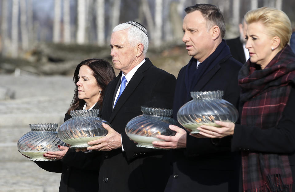
[[[208,138],[232,136],[231,150],[242,151],[242,191],[294,192],[295,54],[292,28],[281,10],[262,7],[246,13],[250,60],[239,72],[241,124],[202,125]]]

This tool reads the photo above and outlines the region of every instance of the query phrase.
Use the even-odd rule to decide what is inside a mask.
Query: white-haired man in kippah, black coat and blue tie
[[[167,151],[136,147],[125,126],[142,114],[141,106],[171,109],[176,78],[145,57],[148,33],[140,23],[117,25],[110,46],[114,67],[121,72],[105,90],[101,117],[112,128],[104,124],[108,135],[89,142],[95,145],[87,148],[101,153],[98,191],[163,191],[169,177]]]

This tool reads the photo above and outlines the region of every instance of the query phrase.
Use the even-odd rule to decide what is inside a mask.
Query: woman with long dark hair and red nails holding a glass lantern
[[[73,77],[76,89],[64,121],[72,118],[69,115],[72,110],[101,109],[104,90],[114,78],[112,65],[103,59],[88,59],[77,65]],[[62,151],[48,151],[43,156],[48,159],[60,159],[59,161],[35,161],[35,163],[47,171],[61,173],[59,191],[97,191],[95,163],[98,163],[96,159],[100,153],[76,152],[64,146],[58,148]]]

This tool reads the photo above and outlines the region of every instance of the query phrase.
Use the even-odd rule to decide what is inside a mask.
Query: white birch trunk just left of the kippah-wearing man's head
[[[97,44],[103,46],[104,41],[104,0],[96,0],[96,33]]]

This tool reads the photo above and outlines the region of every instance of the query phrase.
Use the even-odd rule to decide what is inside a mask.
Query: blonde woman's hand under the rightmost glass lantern
[[[197,138],[222,138],[234,134],[234,123],[222,121],[215,121],[215,123],[220,127],[201,125],[197,128],[200,131],[199,133],[190,133],[190,135]]]

